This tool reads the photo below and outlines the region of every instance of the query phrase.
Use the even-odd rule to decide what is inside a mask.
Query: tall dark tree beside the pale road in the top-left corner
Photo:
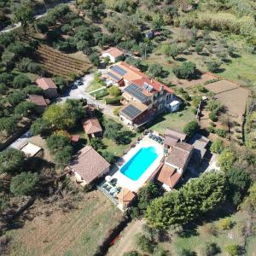
[[[14,20],[20,22],[23,31],[26,33],[27,26],[34,21],[32,2],[23,0],[14,8]]]

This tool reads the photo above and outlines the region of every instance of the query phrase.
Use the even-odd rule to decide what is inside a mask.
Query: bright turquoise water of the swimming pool
[[[157,157],[158,154],[154,147],[141,148],[133,155],[131,160],[121,168],[120,172],[135,181],[143,175]]]

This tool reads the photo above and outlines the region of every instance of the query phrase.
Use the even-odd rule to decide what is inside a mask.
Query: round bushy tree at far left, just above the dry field
[[[11,179],[10,191],[16,195],[32,195],[39,182],[38,173],[21,172]]]

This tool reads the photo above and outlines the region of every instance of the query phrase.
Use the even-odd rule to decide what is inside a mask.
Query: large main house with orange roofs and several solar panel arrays
[[[123,91],[121,103],[124,107],[120,109],[119,119],[131,129],[146,124],[166,110],[177,110],[180,104],[171,88],[124,61],[109,67],[105,78]]]

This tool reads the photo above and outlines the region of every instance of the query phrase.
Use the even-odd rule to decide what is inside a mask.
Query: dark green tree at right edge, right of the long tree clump
[[[237,206],[246,195],[252,180],[245,170],[238,167],[230,168],[226,174],[229,183],[230,200]]]

